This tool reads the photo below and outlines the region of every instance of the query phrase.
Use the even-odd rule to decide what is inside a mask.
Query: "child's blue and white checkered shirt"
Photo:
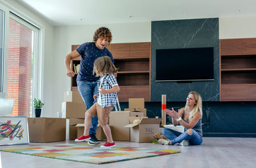
[[[100,83],[100,79],[103,79],[102,83]],[[115,87],[118,85],[116,81],[116,77],[113,74],[106,74],[105,76],[100,77],[100,79],[97,82],[98,89],[104,88],[106,90]],[[99,90],[98,90],[99,95]],[[111,94],[102,94],[100,96],[101,99],[101,107],[108,107],[108,106],[116,106],[116,92]]]

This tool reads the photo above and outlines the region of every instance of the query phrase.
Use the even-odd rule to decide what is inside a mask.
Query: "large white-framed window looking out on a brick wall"
[[[15,99],[14,116],[33,116],[33,98],[41,95],[41,31],[28,20],[0,3],[0,92]]]

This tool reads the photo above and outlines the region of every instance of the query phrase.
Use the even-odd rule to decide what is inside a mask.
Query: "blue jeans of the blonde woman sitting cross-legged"
[[[166,129],[162,130],[165,137],[171,140],[172,144],[181,143],[183,140],[189,141],[189,144],[201,144],[203,142],[202,136],[200,136],[195,130],[192,129],[192,135],[188,134],[188,130],[181,133],[176,130]]]

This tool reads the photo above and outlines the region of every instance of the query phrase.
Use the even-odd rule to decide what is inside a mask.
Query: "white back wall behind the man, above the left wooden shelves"
[[[61,111],[63,93],[70,90],[70,78],[67,77],[64,65],[65,56],[71,52],[72,45],[92,41],[93,34],[101,26],[108,27],[113,35],[111,43],[132,43],[151,41],[151,23],[106,24],[106,25],[76,25],[61,26],[54,29],[54,108],[53,115]]]

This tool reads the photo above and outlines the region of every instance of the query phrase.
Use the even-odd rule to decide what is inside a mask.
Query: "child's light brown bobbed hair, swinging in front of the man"
[[[113,74],[118,71],[118,68],[112,63],[111,59],[108,56],[99,57],[95,60],[93,64],[93,74],[96,76],[100,76],[100,73],[105,74]]]

